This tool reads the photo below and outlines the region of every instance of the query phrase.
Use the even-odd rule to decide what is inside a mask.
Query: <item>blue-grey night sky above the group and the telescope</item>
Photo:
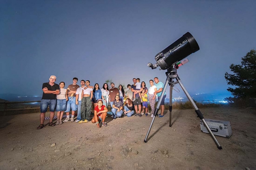
[[[1,0],[0,93],[42,95],[50,75],[66,87],[73,77],[100,87],[139,77],[149,88],[154,77],[165,82],[166,70],[147,63],[187,32],[200,47],[178,69],[187,91],[228,93],[225,72],[256,47],[255,7],[255,0]]]

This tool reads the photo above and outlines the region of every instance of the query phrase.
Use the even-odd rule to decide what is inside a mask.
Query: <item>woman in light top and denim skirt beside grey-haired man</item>
[[[60,82],[60,93],[57,95],[57,106],[56,106],[56,112],[57,112],[57,122],[56,125],[62,124],[62,116],[64,111],[66,110],[66,102],[68,101],[68,93],[66,88],[64,88],[65,83]]]

